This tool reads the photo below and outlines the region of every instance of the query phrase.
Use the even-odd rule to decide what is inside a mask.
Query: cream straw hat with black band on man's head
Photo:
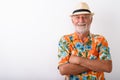
[[[89,6],[85,2],[80,2],[75,8],[74,11],[72,12],[71,16],[73,15],[79,15],[79,14],[91,14],[94,15],[89,9]]]

